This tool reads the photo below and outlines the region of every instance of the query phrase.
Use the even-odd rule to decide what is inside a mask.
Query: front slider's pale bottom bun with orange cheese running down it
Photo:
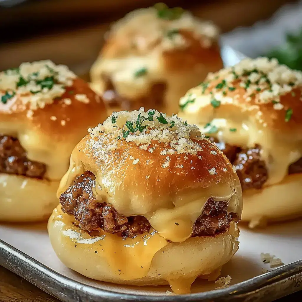
[[[108,233],[92,237],[73,223],[60,206],[48,221],[50,242],[67,267],[117,284],[170,284],[177,294],[190,292],[198,276],[215,280],[239,246],[239,230],[233,222],[225,233],[191,237],[182,243],[168,242],[155,232],[134,239]]]

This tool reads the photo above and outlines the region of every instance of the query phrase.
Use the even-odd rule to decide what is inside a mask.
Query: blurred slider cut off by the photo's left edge
[[[49,217],[70,152],[103,114],[100,97],[66,66],[0,72],[0,220]]]

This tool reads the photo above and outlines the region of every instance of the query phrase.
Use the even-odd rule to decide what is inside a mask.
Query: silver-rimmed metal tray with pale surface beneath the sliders
[[[245,56],[222,47],[225,66]],[[64,302],[106,301],[258,301],[270,302],[302,289],[302,220],[253,231],[240,225],[240,248],[223,267],[233,285],[215,289],[195,284],[191,294],[169,295],[169,287],[127,287],[85,278],[66,268],[53,252],[46,224],[0,224],[0,265]],[[288,252],[289,246],[291,247]],[[262,273],[260,253],[271,253],[285,265]],[[205,281],[203,281],[205,282]],[[198,282],[197,282],[198,283]],[[214,284],[214,286],[213,286]],[[156,288],[156,289],[155,289]]]

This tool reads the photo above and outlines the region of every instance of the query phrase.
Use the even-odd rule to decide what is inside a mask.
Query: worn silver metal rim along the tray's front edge
[[[33,283],[52,296],[66,301],[223,301],[230,299],[245,300],[251,293],[274,286],[280,282],[294,281],[297,290],[280,293],[277,298],[294,293],[302,285],[302,260],[275,268],[262,275],[231,285],[227,288],[184,295],[133,295],[108,291],[72,280],[36,259],[21,252],[0,239],[0,265]],[[298,279],[298,281],[296,281]],[[296,286],[297,285],[297,286]],[[78,300],[80,298],[80,300]],[[97,300],[95,300],[97,299]],[[101,300],[100,300],[101,299]],[[275,297],[274,297],[275,299]],[[255,300],[254,300],[255,301]],[[264,300],[263,300],[264,301]],[[268,301],[268,300],[266,300]]]

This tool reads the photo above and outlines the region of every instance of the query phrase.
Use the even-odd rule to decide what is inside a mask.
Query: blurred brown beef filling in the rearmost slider
[[[120,107],[121,110],[138,110],[140,107],[147,109],[162,108],[164,103],[164,96],[167,85],[165,83],[154,83],[151,86],[150,92],[146,96],[141,96],[136,100],[129,100],[120,96],[111,81],[111,79],[105,75],[102,76],[105,82],[105,89],[103,99],[108,107]]]

